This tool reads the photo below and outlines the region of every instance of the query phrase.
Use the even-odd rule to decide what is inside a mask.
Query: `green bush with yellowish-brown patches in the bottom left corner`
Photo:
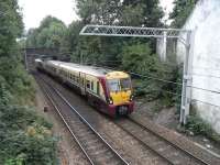
[[[23,107],[0,107],[0,164],[56,164],[52,125]]]

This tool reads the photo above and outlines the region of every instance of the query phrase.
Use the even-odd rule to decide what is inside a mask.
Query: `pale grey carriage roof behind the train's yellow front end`
[[[73,72],[81,72],[94,76],[106,76],[109,73],[112,73],[111,69],[106,69],[96,66],[87,66],[87,65],[79,65],[74,63],[65,63],[65,62],[57,62],[57,61],[47,61],[47,64],[59,66],[64,69],[73,70]]]

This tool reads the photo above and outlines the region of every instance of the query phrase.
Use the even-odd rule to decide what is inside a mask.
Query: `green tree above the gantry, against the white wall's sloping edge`
[[[169,19],[173,20],[170,26],[182,28],[195,8],[197,1],[198,0],[175,0],[174,10],[169,14]]]

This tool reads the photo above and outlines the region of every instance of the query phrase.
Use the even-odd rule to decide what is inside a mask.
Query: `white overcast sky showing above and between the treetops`
[[[161,0],[163,8],[169,12],[173,0]],[[22,8],[25,29],[37,28],[46,15],[53,15],[64,21],[67,25],[77,20],[75,0],[19,0]]]

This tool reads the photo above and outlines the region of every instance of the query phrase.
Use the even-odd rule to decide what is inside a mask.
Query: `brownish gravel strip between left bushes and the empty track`
[[[61,165],[89,165],[78,145],[73,141],[61,117],[53,109],[53,106],[50,105],[50,101],[38,86],[36,87],[36,106],[38,113],[53,123],[53,133],[58,138],[58,158]],[[45,106],[50,106],[50,110],[46,113],[43,112]]]

